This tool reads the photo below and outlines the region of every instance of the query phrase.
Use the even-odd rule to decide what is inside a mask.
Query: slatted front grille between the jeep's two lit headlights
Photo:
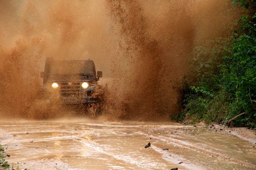
[[[79,96],[80,94],[80,82],[60,82],[60,95],[64,97]]]

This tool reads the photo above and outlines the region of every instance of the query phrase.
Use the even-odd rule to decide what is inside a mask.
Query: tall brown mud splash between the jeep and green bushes
[[[207,39],[229,36],[232,21],[240,15],[234,15],[237,9],[230,0],[107,2],[121,37],[122,55],[114,57],[113,65],[120,66],[117,76],[124,77],[112,95],[122,93],[126,112],[120,117],[134,120],[166,120],[180,112],[180,89],[192,48]]]

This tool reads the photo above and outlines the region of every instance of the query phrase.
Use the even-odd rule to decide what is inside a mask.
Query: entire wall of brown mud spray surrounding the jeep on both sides
[[[236,11],[231,0],[0,1],[0,114],[44,114],[46,57],[90,58],[111,77],[105,114],[166,119],[180,111],[192,48],[230,35]]]

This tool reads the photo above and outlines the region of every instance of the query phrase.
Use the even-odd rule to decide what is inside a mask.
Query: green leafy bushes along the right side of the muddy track
[[[234,5],[247,14],[230,38],[194,48],[183,111],[174,119],[256,128],[256,0],[236,0]]]

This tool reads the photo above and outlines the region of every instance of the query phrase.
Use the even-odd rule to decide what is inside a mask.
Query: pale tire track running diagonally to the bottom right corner
[[[168,138],[168,137],[161,136],[161,135],[156,136],[156,135],[145,134],[143,132],[137,132],[137,133],[141,134],[141,135],[144,135],[144,136],[148,136],[150,138],[155,138],[155,139],[161,140],[163,142],[168,142],[168,143],[170,143],[170,144],[172,144],[174,146],[178,146],[178,147],[181,147],[181,148],[187,148],[187,149],[194,150],[194,151],[197,151],[197,152],[201,152],[201,153],[204,153],[204,154],[210,154],[212,156],[217,157],[218,159],[230,161],[230,162],[233,162],[235,164],[240,164],[242,166],[247,166],[249,168],[256,169],[256,165],[254,165],[254,164],[251,164],[251,163],[248,163],[248,162],[244,162],[242,160],[238,160],[238,159],[233,158],[231,156],[228,156],[226,154],[221,154],[221,153],[209,150],[209,149],[205,149],[205,148],[200,148],[200,147],[194,146],[190,142],[185,142],[185,141],[174,139],[174,138]]]

